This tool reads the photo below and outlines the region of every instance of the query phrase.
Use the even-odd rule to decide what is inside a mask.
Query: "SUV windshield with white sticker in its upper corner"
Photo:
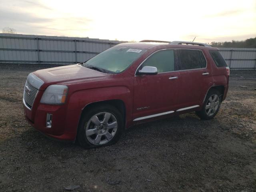
[[[101,72],[120,73],[138,59],[146,49],[114,46],[86,61],[83,66]]]

